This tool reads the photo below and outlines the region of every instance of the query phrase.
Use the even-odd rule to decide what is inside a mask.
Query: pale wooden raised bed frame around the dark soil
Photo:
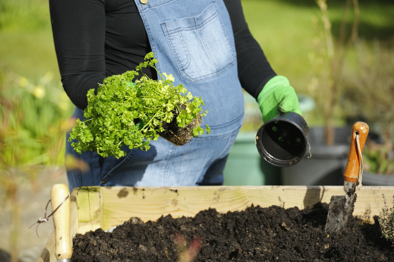
[[[382,193],[394,195],[392,186],[364,186],[357,190],[354,216],[373,222],[383,206]],[[218,212],[241,211],[246,207],[278,205],[284,208],[312,207],[329,203],[332,195],[344,194],[342,186],[210,186],[210,187],[82,187],[71,193],[70,234],[110,229],[139,217],[144,222],[162,215],[174,218],[195,216],[215,208]],[[37,262],[57,262],[54,232]]]

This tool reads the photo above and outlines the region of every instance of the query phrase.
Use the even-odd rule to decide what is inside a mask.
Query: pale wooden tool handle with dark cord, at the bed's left
[[[65,198],[67,200],[65,200]],[[53,216],[55,226],[55,257],[56,259],[71,258],[72,248],[70,241],[70,192],[65,184],[53,185],[50,192],[52,203],[52,212],[56,210]],[[65,200],[65,201],[64,201]],[[62,202],[64,203],[62,204]]]

